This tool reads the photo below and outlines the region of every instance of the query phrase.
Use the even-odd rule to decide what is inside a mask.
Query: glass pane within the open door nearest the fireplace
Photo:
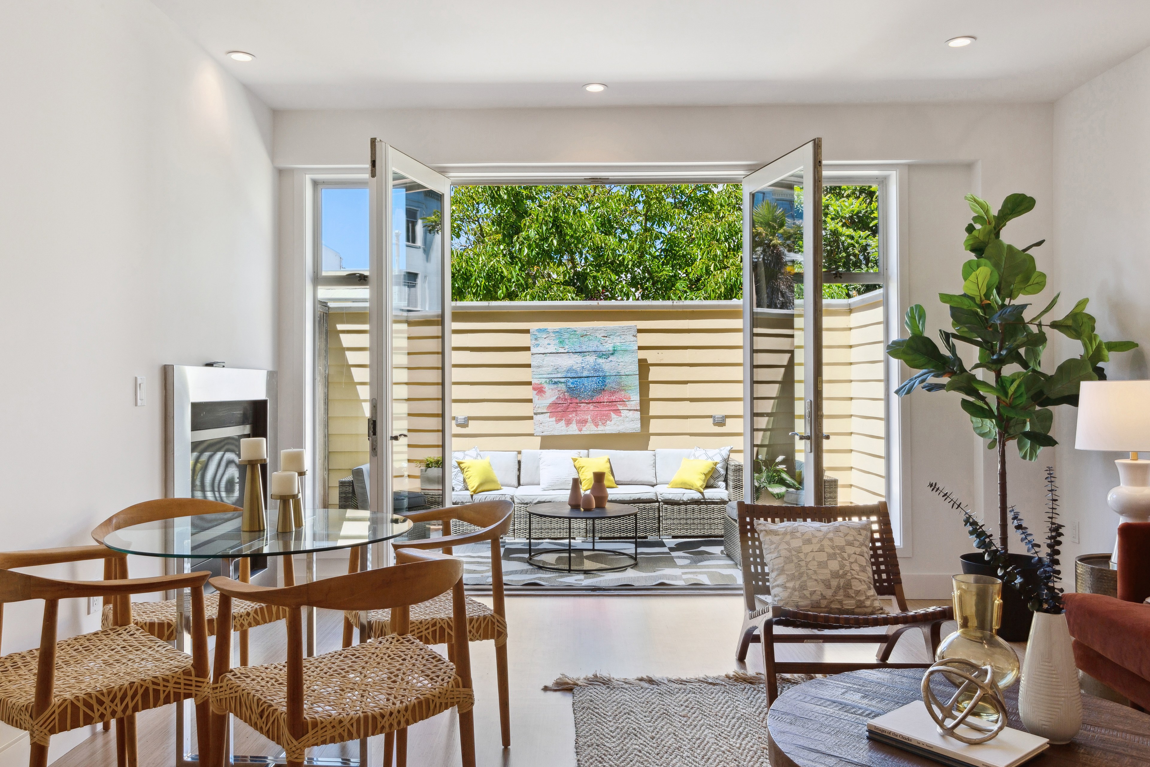
[[[443,202],[440,192],[392,172],[391,436],[398,439],[389,442],[399,513],[443,500]]]

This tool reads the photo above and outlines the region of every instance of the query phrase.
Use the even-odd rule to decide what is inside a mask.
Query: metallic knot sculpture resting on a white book
[[[938,699],[930,680],[935,674],[958,688],[945,703]],[[963,743],[986,743],[995,738],[1006,727],[1006,701],[994,681],[995,673],[990,666],[977,666],[963,658],[941,660],[922,676],[922,703],[926,704],[930,719],[935,720],[941,735],[952,737]],[[974,710],[987,705],[998,714],[995,723],[983,720]],[[960,710],[959,710],[960,708]],[[958,731],[965,724],[972,730],[984,733],[981,736],[967,736]]]

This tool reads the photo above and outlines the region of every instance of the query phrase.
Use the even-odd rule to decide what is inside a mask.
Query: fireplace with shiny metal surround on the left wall
[[[168,498],[205,498],[233,506],[244,501],[246,471],[240,471],[239,440],[264,437],[268,457],[276,452],[276,373],[240,368],[166,365],[164,480]],[[268,467],[260,466],[263,503]],[[193,524],[194,531],[202,531]],[[191,562],[192,570],[218,569],[216,560]],[[252,573],[267,558],[252,559]]]

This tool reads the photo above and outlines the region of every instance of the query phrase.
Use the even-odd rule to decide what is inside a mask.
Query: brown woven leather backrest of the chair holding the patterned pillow
[[[873,522],[871,536],[871,570],[874,590],[880,597],[896,597],[903,576],[895,553],[895,532],[890,527],[887,503],[867,506],[775,506],[738,503],[738,546],[743,554],[743,595],[746,608],[754,609],[756,595],[770,593],[770,578],[762,559],[762,539],[754,529],[756,520],[767,522],[838,522],[867,519]]]

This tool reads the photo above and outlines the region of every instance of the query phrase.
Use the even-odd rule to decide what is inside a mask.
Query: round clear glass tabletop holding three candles
[[[350,549],[390,540],[412,529],[406,517],[354,508],[305,509],[304,527],[293,532],[276,532],[276,514],[268,516],[268,529],[260,531],[240,530],[240,512],[144,522],[109,534],[103,545],[143,557],[239,559]]]

